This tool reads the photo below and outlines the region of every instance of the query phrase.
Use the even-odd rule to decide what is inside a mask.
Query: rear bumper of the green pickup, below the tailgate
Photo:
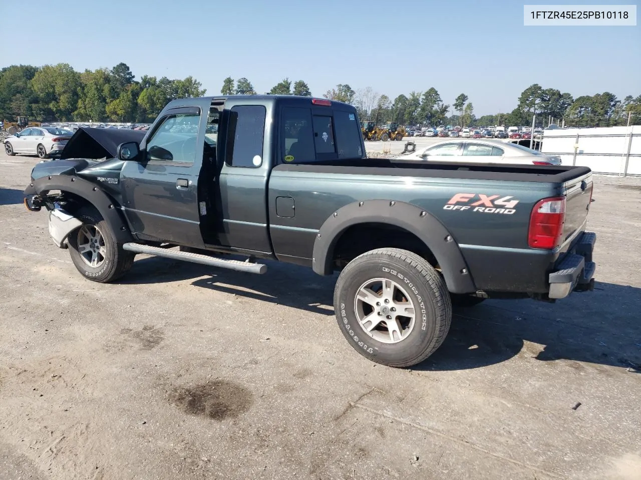
[[[594,289],[596,264],[592,261],[592,251],[596,239],[595,233],[583,232],[578,242],[558,262],[549,274],[549,298],[565,298],[572,291]]]

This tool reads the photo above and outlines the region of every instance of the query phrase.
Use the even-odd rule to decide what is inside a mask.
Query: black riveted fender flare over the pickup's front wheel
[[[93,205],[100,212],[104,221],[112,229],[113,236],[117,242],[127,243],[134,241],[124,215],[113,199],[99,185],[88,182],[88,180],[76,175],[53,175],[33,180],[25,189],[24,195],[44,196],[50,190],[67,191],[87,200],[88,204]]]

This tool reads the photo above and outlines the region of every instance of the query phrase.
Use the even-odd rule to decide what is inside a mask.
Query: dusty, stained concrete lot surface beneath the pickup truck
[[[336,277],[84,280],[22,206],[37,161],[0,156],[1,480],[641,479],[641,180],[594,177],[594,292],[456,310],[398,370],[345,342]]]

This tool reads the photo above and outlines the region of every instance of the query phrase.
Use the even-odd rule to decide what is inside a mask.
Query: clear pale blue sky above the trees
[[[194,76],[208,95],[227,76],[247,77],[259,93],[303,79],[319,97],[338,83],[392,99],[433,86],[448,104],[466,93],[477,116],[511,111],[533,83],[575,97],[641,94],[640,26],[525,27],[524,3],[30,0],[3,9],[28,10],[24,21],[3,21],[3,38],[26,35],[29,46],[5,42],[0,67],[124,61],[138,79]]]

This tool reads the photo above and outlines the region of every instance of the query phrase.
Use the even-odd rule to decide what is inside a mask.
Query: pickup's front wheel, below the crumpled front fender
[[[107,283],[120,278],[133,265],[134,253],[122,249],[99,212],[82,212],[83,225],[69,234],[69,255],[82,276]]]

